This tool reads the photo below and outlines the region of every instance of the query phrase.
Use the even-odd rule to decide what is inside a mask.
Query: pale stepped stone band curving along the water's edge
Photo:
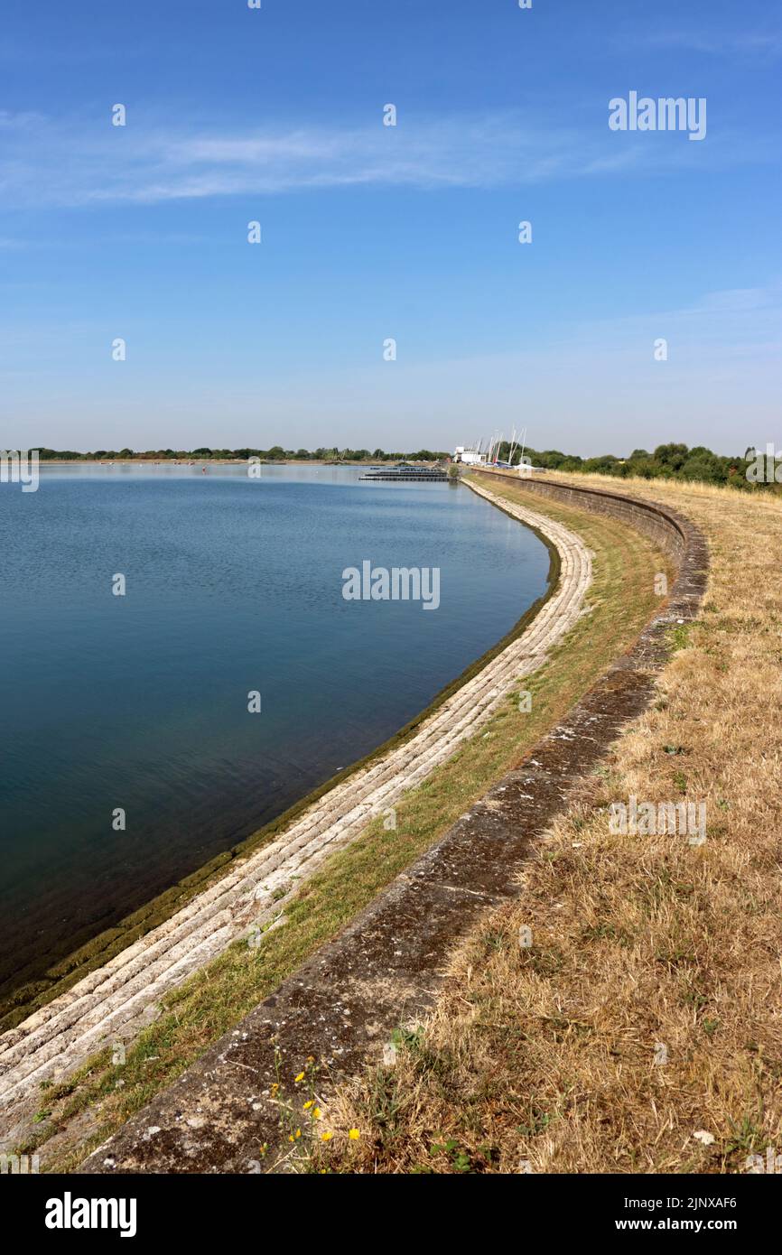
[[[63,1077],[122,1034],[148,1023],[156,1000],[249,930],[274,925],[282,906],[323,861],[348,845],[375,816],[419,784],[471,737],[508,690],[545,660],[582,610],[590,555],[567,528],[526,507],[472,491],[531,526],[561,556],[556,590],[532,622],[389,750],[380,749],[309,806],[286,831],[245,858],[163,924],[0,1038],[0,1102],[24,1098],[30,1086]],[[520,671],[520,668],[523,668]],[[294,877],[296,877],[294,880]]]

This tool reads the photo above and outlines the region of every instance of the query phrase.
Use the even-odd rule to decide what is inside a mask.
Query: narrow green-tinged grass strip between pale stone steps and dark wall
[[[512,486],[502,491],[520,492]],[[523,494],[518,499],[528,502]],[[333,937],[518,762],[659,607],[654,576],[668,566],[648,541],[609,518],[544,501],[532,505],[579,531],[595,555],[591,612],[523,685],[533,694],[532,712],[520,713],[510,697],[476,738],[398,804],[395,831],[375,821],[301,887],[282,926],[259,949],[235,944],[169,994],[161,1017],[128,1049],[124,1065],[112,1065],[105,1050],[69,1082],[45,1088],[39,1135],[25,1147],[39,1147],[44,1165],[68,1168],[78,1162]]]

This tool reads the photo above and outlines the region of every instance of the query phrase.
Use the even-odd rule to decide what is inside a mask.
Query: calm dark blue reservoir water
[[[44,469],[0,536],[0,991],[385,740],[549,571],[467,488],[341,468]],[[345,601],[365,558],[438,566],[439,609]]]

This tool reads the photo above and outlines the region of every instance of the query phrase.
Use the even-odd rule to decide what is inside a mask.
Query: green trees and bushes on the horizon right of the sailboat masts
[[[507,462],[510,444],[500,448],[500,461]],[[513,452],[513,464],[517,464],[521,451]],[[532,466],[547,471],[576,471],[584,474],[611,474],[620,479],[640,476],[643,479],[688,479],[702,483],[723,483],[734,488],[751,489],[756,483],[747,479],[747,467],[754,458],[754,449],[747,449],[736,457],[723,457],[712,453],[705,446],[688,448],[687,444],[658,444],[654,453],[648,449],[634,449],[626,458],[604,453],[595,458],[580,458],[572,453],[560,453],[559,449],[525,449]],[[766,484],[758,484],[764,487]]]

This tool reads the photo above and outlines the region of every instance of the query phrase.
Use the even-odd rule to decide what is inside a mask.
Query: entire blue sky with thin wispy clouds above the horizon
[[[5,0],[0,444],[778,442],[781,65],[768,0]]]

